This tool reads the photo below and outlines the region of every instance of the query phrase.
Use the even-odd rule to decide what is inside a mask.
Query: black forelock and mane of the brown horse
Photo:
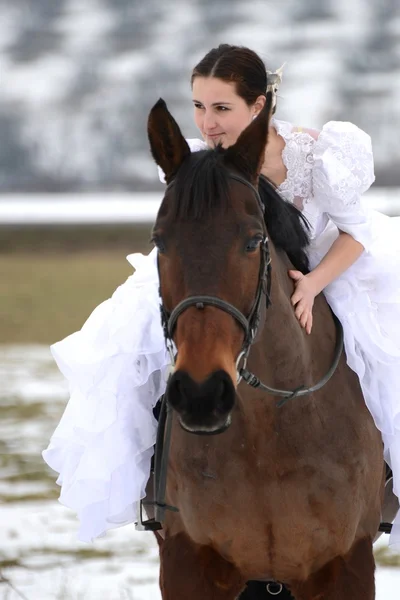
[[[210,213],[229,211],[229,171],[223,164],[224,149],[193,152],[174,179],[176,202],[170,206],[176,219],[202,220]],[[309,244],[309,224],[293,204],[284,200],[268,179],[259,178],[258,190],[265,207],[264,218],[275,248],[286,252],[293,266],[308,272],[305,248]]]

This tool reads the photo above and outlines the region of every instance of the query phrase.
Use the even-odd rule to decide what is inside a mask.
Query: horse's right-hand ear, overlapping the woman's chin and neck
[[[268,92],[262,111],[225,153],[225,160],[254,184],[257,183],[264,162],[271,114],[272,93]]]

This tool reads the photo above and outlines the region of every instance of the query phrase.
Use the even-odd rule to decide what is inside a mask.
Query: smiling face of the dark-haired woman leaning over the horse
[[[217,77],[196,77],[192,96],[195,123],[210,147],[232,146],[262,109],[262,97],[248,106],[236,93],[235,83]]]

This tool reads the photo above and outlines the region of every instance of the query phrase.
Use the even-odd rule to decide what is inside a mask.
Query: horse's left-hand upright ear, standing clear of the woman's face
[[[165,181],[169,183],[190,154],[190,148],[162,98],[150,111],[147,134],[153,158],[164,171]]]

